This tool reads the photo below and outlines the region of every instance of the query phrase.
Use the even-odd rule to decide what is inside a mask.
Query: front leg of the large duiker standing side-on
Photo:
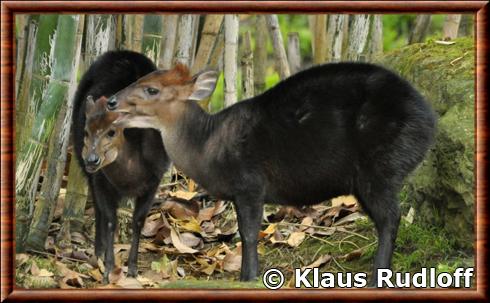
[[[237,199],[235,207],[238,230],[242,240],[242,269],[240,280],[249,281],[257,278],[259,272],[257,238],[264,207],[262,200],[258,199]]]

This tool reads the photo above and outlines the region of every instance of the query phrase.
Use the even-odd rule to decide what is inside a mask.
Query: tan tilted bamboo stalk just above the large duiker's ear
[[[218,34],[223,24],[223,15],[207,15],[204,27],[201,32],[201,41],[197,50],[196,59],[192,64],[191,74],[195,74],[209,63],[214,45],[218,39]]]

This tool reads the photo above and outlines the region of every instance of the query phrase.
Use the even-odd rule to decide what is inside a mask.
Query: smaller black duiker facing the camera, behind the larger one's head
[[[75,155],[88,178],[95,204],[95,254],[104,255],[104,280],[114,268],[117,207],[135,198],[128,275],[138,273],[141,228],[169,160],[160,134],[153,129],[115,128],[103,96],[110,96],[156,69],[145,56],[130,51],[107,52],[82,77],[75,95]],[[95,99],[101,98],[95,103]]]

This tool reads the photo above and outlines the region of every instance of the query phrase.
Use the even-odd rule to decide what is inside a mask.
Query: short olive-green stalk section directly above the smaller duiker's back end
[[[162,16],[145,15],[143,22],[143,53],[153,62],[158,63],[162,44]]]

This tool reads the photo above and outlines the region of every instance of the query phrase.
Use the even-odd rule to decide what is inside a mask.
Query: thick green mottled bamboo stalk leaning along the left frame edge
[[[45,154],[45,145],[53,132],[61,104],[66,102],[69,84],[76,81],[74,67],[78,64],[81,43],[77,40],[80,16],[60,15],[54,39],[51,77],[47,94],[36,115],[29,141],[18,154],[15,171],[16,192],[16,249],[24,250],[27,228],[30,224],[25,210],[34,202],[31,194],[36,191],[38,180],[35,178]],[[77,56],[78,55],[78,56]]]

